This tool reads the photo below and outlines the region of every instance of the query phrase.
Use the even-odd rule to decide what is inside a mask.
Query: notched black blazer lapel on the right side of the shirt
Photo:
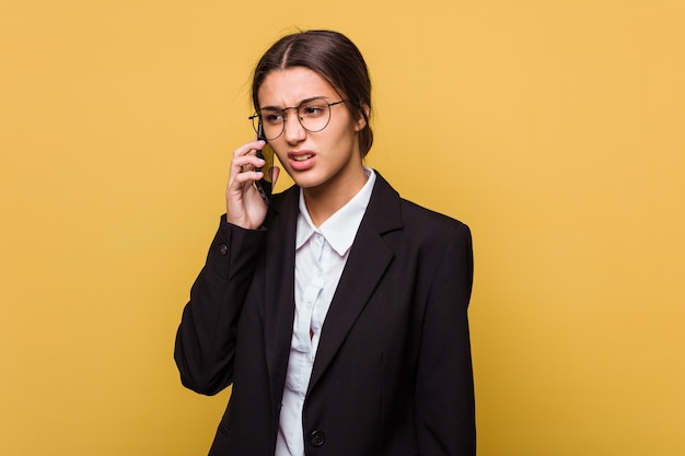
[[[310,379],[310,390],[335,358],[392,262],[394,253],[385,244],[382,235],[402,227],[400,215],[399,195],[376,172],[371,200],[324,321]]]

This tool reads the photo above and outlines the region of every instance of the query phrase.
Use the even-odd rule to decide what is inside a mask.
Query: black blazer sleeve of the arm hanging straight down
[[[473,284],[471,231],[445,239],[428,293],[417,372],[420,455],[476,454],[474,381],[467,307]]]

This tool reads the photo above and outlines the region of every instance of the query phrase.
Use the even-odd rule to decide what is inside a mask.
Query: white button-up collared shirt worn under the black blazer
[[[318,227],[312,222],[300,191],[295,234],[295,317],[275,456],[304,455],[302,408],[321,330],[375,183],[375,173],[370,168],[364,172],[367,184]]]

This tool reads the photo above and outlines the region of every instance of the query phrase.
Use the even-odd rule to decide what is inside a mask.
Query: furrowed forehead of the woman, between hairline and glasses
[[[303,67],[271,71],[257,92],[262,107],[295,106],[315,96],[334,98],[337,92],[322,75]]]

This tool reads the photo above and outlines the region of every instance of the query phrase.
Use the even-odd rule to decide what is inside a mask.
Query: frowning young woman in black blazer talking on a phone
[[[175,349],[188,388],[233,385],[210,455],[475,455],[471,234],[364,167],[361,54],[336,32],[286,36],[252,94],[295,185],[267,206],[265,141],[234,151]]]

